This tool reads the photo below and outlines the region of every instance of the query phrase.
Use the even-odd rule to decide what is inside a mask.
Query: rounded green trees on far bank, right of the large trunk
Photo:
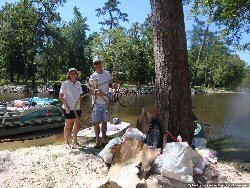
[[[197,64],[197,57],[204,37],[203,25],[195,25],[190,36],[189,65],[191,74],[197,70],[196,85],[207,87],[236,88],[245,75],[245,62],[229,50],[214,32],[205,40],[203,55]]]

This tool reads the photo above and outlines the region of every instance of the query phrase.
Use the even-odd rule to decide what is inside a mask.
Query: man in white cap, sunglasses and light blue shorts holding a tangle
[[[112,77],[109,71],[103,70],[102,60],[100,58],[94,58],[93,65],[95,67],[95,72],[90,76],[90,80],[93,80],[97,83],[98,89],[103,93],[108,95],[109,88],[112,88]],[[107,121],[110,119],[110,112],[108,109],[109,99],[107,96],[96,96],[94,102],[94,109],[92,113],[93,122],[102,121],[102,140],[100,143],[99,134],[100,127],[99,125],[95,126],[95,135],[96,135],[96,145],[95,148],[104,147],[107,144],[106,132],[107,132]]]

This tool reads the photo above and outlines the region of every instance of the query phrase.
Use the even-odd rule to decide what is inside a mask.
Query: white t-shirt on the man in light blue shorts
[[[112,83],[112,77],[109,73],[109,71],[103,70],[102,74],[98,74],[97,72],[94,72],[90,76],[90,80],[97,80],[98,89],[100,89],[102,92],[108,94],[109,92],[109,84]],[[106,100],[108,100],[107,97],[105,97]],[[96,99],[97,104],[106,104],[106,101],[101,97],[97,96]]]

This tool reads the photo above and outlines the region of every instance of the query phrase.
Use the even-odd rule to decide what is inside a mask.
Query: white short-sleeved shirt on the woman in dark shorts
[[[62,83],[60,93],[64,94],[64,99],[67,102],[70,110],[74,110],[76,102],[79,100],[80,95],[83,93],[81,83],[79,81],[73,83],[70,80],[67,80]],[[64,105],[63,108],[65,109]],[[76,110],[79,109],[80,103],[78,103]]]

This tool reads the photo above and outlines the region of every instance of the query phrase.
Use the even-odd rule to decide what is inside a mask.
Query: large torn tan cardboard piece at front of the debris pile
[[[139,140],[127,138],[115,152],[108,176],[122,187],[143,185],[146,183],[144,178],[159,154],[159,150]]]

